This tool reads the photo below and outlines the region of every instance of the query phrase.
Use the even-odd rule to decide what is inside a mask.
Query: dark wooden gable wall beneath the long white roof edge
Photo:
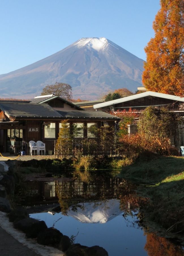
[[[166,107],[168,106],[170,110],[183,110],[184,104],[181,102],[176,102],[175,100],[169,100],[169,99],[164,99],[164,98],[158,98],[158,97],[153,97],[153,96],[147,96],[135,100],[130,100],[127,102],[122,102],[119,104],[115,104],[115,109],[123,110],[126,109],[128,110],[130,107],[132,109],[137,109],[137,110],[144,110],[147,106],[157,106],[158,108],[160,107]]]

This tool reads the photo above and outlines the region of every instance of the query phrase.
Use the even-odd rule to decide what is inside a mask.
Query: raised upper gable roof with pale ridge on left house
[[[54,94],[52,95],[43,95],[43,96],[35,96],[35,98],[31,99],[30,103],[36,103],[36,104],[43,104],[43,103],[48,103],[50,100],[54,100],[54,99],[60,99],[62,101],[64,101],[66,104],[68,104],[69,106],[72,106],[74,108],[77,108],[79,110],[83,110],[85,111],[83,108],[80,108],[79,106],[75,105],[74,103],[60,97],[60,96],[55,96]]]

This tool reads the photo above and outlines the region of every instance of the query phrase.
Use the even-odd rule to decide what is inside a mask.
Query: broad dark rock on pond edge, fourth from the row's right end
[[[56,228],[47,228],[40,232],[37,237],[38,244],[58,247],[63,234]]]

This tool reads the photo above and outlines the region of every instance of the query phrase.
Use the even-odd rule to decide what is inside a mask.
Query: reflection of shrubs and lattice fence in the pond
[[[136,197],[135,184],[122,178],[106,178],[89,183],[80,180],[55,182],[55,191],[61,206],[61,212],[67,215],[70,210],[76,212],[78,208],[84,210],[84,205],[79,201],[93,200],[93,209],[102,205],[107,199],[120,199],[120,210],[125,211],[126,216],[132,216],[131,209],[137,209],[140,197]],[[98,201],[98,202],[97,202]],[[109,209],[106,203],[103,209]]]

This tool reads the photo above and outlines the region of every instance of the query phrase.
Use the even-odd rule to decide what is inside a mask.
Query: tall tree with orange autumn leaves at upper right
[[[143,84],[149,91],[184,96],[184,1],[160,0],[145,52]]]

